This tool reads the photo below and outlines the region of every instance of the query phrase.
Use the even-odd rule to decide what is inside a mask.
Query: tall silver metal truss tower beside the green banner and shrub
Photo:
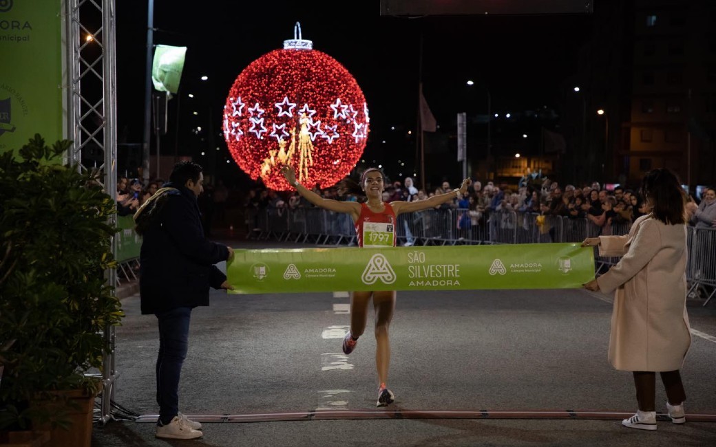
[[[65,129],[74,144],[69,161],[79,170],[93,170],[103,181],[105,191],[114,196],[117,189],[117,128],[116,128],[116,56],[115,0],[64,0],[63,88]],[[110,225],[115,227],[116,215]],[[117,240],[112,243],[117,254]],[[113,288],[117,285],[115,270],[105,277]],[[110,404],[114,398],[115,328],[105,328],[110,350],[105,354],[102,371],[101,423],[110,420]],[[97,419],[95,413],[95,420]]]

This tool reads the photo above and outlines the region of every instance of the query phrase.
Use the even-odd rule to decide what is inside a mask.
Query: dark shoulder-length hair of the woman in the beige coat
[[[686,223],[686,194],[673,172],[659,168],[644,175],[642,196],[652,206],[652,215],[667,225]]]

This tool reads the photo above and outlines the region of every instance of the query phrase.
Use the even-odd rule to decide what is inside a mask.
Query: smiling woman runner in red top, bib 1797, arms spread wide
[[[459,189],[445,194],[434,195],[427,200],[415,202],[383,202],[382,194],[385,179],[377,168],[369,168],[360,177],[360,185],[350,179],[339,183],[339,195],[353,193],[367,197],[365,202],[340,202],[324,199],[296,181],[293,167],[284,166],[281,173],[290,185],[296,188],[302,197],[317,207],[334,212],[344,212],[353,218],[359,247],[395,247],[396,217],[404,212],[414,212],[437,207],[445,202],[457,200],[468,190],[472,181],[463,180]],[[378,373],[378,402],[376,406],[387,406],[395,401],[395,396],[387,388],[390,369],[390,340],[388,329],[395,310],[395,290],[357,291],[351,294],[351,328],[343,339],[343,352],[353,352],[358,338],[363,335],[367,323],[368,305],[373,301],[375,311],[375,366]]]

